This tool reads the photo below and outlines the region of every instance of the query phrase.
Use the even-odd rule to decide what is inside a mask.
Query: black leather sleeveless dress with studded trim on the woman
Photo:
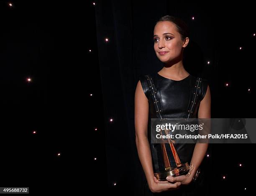
[[[205,97],[207,91],[207,80],[189,75],[182,80],[176,81],[167,79],[158,73],[140,76],[139,80],[141,81],[143,91],[148,98],[148,132],[150,132],[151,118],[197,118],[200,101]],[[157,98],[154,97],[154,93]],[[156,107],[157,102],[159,104]],[[159,155],[157,156],[157,152],[160,150],[161,145],[150,143],[150,146],[154,173],[159,172],[164,168],[164,165],[162,164],[163,161],[161,160],[162,157]],[[166,147],[168,147],[168,145],[166,145]],[[188,162],[190,164],[195,144],[176,143],[174,144],[174,147],[181,162]],[[171,153],[170,148],[166,148],[166,150],[169,151],[168,154]],[[171,162],[174,162],[172,158],[170,159]],[[149,192],[151,191],[148,191],[148,193]],[[162,194],[166,193],[163,192]],[[170,192],[169,194],[172,193]]]

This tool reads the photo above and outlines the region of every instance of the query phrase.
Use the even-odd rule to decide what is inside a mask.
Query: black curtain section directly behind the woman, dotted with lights
[[[177,16],[189,25],[191,35],[185,48],[184,66],[190,74],[208,79],[212,118],[255,117],[252,102],[255,92],[248,94],[248,88],[255,87],[252,71],[255,15],[249,4],[232,3],[231,8],[215,1],[205,4],[166,0],[97,1],[95,17],[106,122],[108,186],[116,193],[142,194],[145,176],[135,144],[134,92],[139,75],[155,73],[163,67],[154,52],[153,31],[156,21],[164,15]],[[229,83],[228,88],[225,83]],[[113,118],[111,123],[110,118]],[[255,145],[209,146],[210,158],[206,161],[211,192],[224,188],[227,193],[244,193],[243,187],[250,182],[237,181],[236,177],[250,170],[248,148],[255,149]],[[247,168],[241,171],[237,167],[239,162],[247,163]],[[225,174],[229,176],[228,181],[223,181]]]

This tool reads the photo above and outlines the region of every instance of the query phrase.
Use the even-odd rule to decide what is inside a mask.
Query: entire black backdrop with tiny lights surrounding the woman
[[[255,117],[252,5],[92,2],[0,1],[1,187],[140,195],[134,92],[163,67],[153,30],[164,15],[189,25],[184,66],[208,79],[212,118]],[[254,150],[210,145],[211,190],[250,193]]]

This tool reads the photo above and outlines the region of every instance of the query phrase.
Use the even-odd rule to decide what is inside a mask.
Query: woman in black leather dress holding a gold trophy
[[[197,82],[196,78],[184,69],[182,63],[184,48],[189,43],[188,36],[186,24],[173,16],[160,18],[154,27],[154,50],[159,60],[164,63],[164,68],[151,77],[161,97],[161,114],[166,118],[210,118],[210,89],[206,80],[200,81],[201,89],[197,94],[199,101],[193,104],[193,111],[187,110],[191,100],[190,89]],[[136,146],[146,175],[145,194],[159,195],[162,192],[160,194],[198,195],[195,186],[191,184],[205,157],[207,143],[174,144],[181,161],[188,161],[194,167],[189,175],[169,176],[167,181],[158,181],[154,176],[154,164],[157,163],[154,163],[154,160],[152,163],[151,153],[156,149],[154,144],[148,141],[148,114],[151,118],[158,118],[158,111],[155,111],[156,103],[149,92],[147,79],[150,77],[140,77],[135,92]]]

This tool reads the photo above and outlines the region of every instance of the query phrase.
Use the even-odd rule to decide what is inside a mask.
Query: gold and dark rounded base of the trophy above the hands
[[[154,176],[156,176],[156,179],[159,181],[166,181],[167,176],[180,176],[187,174],[189,171],[189,164],[184,163],[182,166],[177,167],[177,168],[171,168],[169,170],[159,172],[159,173],[154,173]]]

